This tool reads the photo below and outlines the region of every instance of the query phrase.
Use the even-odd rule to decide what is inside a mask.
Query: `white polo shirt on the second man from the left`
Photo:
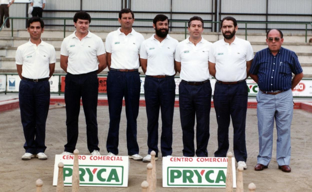
[[[67,72],[77,75],[98,70],[97,56],[105,54],[102,39],[88,30],[88,35],[80,41],[75,33],[67,36],[61,45],[61,55],[68,56]]]

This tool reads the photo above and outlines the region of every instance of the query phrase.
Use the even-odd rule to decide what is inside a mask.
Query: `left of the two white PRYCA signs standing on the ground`
[[[57,185],[58,163],[64,163],[64,186],[71,186],[74,155],[55,155],[53,185]],[[79,186],[128,187],[128,156],[78,155]]]

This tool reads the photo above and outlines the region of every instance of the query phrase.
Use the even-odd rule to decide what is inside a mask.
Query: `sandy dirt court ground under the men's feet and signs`
[[[246,122],[247,143],[247,170],[244,175],[244,189],[248,191],[248,184],[256,184],[256,191],[312,191],[311,147],[312,147],[312,114],[303,110],[294,110],[294,118],[291,129],[292,156],[290,173],[282,172],[276,163],[276,131],[274,130],[273,158],[268,169],[254,171],[258,154],[258,129],[256,109],[248,109]],[[106,155],[106,138],[109,126],[108,106],[98,106],[99,147],[102,155]],[[30,161],[22,161],[25,142],[20,110],[11,110],[0,113],[0,191],[35,191],[35,181],[43,180],[43,191],[56,191],[52,186],[54,155],[64,150],[66,143],[66,112],[65,108],[49,111],[46,123],[46,155],[48,160],[41,161],[34,158]],[[161,120],[159,120],[160,122]],[[161,122],[159,123],[161,125]],[[140,107],[138,117],[138,143],[140,155],[147,153],[147,119],[145,107]],[[196,126],[196,125],[195,125]],[[127,155],[126,149],[126,117],[123,107],[119,133],[119,155]],[[160,129],[159,129],[160,130]],[[233,128],[230,126],[230,151],[232,151]],[[196,146],[196,145],[195,145]],[[79,138],[76,148],[80,154],[89,155],[86,145],[85,118],[82,107],[80,109]],[[160,149],[160,142],[158,142]],[[179,118],[179,108],[174,110],[173,124],[173,156],[182,154],[182,131]],[[208,156],[213,157],[217,149],[217,122],[214,108],[210,113],[210,140],[208,143]],[[159,156],[161,154],[159,153]],[[163,188],[162,187],[162,160],[156,161],[157,167],[157,191],[225,191],[216,188]],[[130,160],[129,182],[127,188],[120,187],[80,187],[80,191],[141,191],[140,185],[146,180],[146,163]],[[65,187],[65,191],[71,191],[71,187]],[[234,190],[235,191],[235,190]]]

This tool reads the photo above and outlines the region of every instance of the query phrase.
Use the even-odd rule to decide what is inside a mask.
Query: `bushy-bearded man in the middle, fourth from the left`
[[[145,73],[144,96],[147,114],[147,145],[148,155],[143,162],[151,161],[151,151],[156,152],[155,160],[158,159],[158,116],[161,108],[162,133],[161,153],[162,156],[172,154],[172,123],[175,100],[174,53],[178,41],[168,35],[169,19],[159,14],[153,20],[155,34],[143,41],[140,49],[140,61]]]

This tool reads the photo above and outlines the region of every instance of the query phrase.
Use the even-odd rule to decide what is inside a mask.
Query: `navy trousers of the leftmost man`
[[[21,80],[18,98],[26,140],[24,149],[32,154],[44,152],[46,150],[46,118],[50,105],[49,81]]]

